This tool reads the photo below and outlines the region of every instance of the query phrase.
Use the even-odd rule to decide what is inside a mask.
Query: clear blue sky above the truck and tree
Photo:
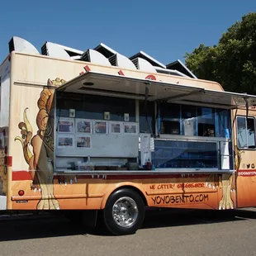
[[[255,0],[4,1],[0,63],[9,40],[20,36],[37,50],[45,41],[78,50],[102,42],[127,57],[144,50],[168,64],[201,43],[217,44],[229,26],[255,11]]]

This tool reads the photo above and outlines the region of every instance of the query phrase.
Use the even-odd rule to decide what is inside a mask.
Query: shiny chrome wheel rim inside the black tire
[[[129,227],[138,218],[138,207],[136,202],[130,197],[119,198],[112,207],[112,216],[116,224],[121,227]]]

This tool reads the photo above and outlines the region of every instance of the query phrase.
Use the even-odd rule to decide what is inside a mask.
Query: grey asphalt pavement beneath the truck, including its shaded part
[[[256,255],[256,209],[147,211],[135,235],[112,236],[59,215],[0,216],[0,255]]]

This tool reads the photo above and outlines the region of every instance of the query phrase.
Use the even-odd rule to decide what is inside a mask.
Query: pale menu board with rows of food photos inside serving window
[[[56,155],[136,158],[138,140],[135,122],[59,118]]]

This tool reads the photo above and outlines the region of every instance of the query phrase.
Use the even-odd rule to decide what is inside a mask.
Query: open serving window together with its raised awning
[[[56,170],[150,162],[165,172],[232,171],[230,110],[256,104],[247,94],[93,72],[56,91]]]

